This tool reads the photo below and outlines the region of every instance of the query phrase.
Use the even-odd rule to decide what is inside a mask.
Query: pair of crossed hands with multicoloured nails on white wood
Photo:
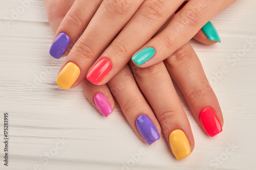
[[[141,140],[155,142],[162,128],[174,156],[182,159],[195,143],[170,76],[201,128],[210,136],[220,133],[218,100],[188,41],[195,34],[205,44],[220,41],[211,23],[205,23],[233,2],[45,0],[56,33],[50,54],[69,54],[57,84],[68,89],[81,83],[105,116],[114,108],[112,91]]]

